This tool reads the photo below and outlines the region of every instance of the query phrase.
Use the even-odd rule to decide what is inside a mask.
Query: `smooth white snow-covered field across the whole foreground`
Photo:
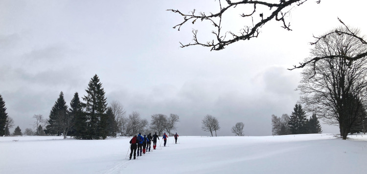
[[[131,137],[0,137],[0,174],[366,174],[367,135],[180,136],[137,160]],[[162,144],[163,146],[163,144]]]

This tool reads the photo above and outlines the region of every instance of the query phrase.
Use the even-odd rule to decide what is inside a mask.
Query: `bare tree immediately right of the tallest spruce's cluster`
[[[121,136],[126,133],[126,110],[125,107],[119,101],[112,101],[110,103],[112,112],[114,113],[115,121],[117,122],[117,128],[115,131],[121,132]]]

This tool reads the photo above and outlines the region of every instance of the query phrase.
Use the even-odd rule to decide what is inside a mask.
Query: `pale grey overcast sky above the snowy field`
[[[366,0],[315,1],[291,9],[293,31],[273,21],[258,38],[210,51],[179,43],[191,42],[193,28],[210,37],[210,23],[177,31],[172,27],[183,18],[166,9],[209,12],[218,0],[0,0],[0,94],[25,130],[34,114],[48,118],[60,91],[68,105],[75,92],[86,95],[97,74],[108,102],[120,101],[127,115],[138,111],[148,121],[178,114],[179,134],[209,135],[201,119],[210,114],[219,120],[219,136],[233,135],[237,122],[245,135],[271,135],[271,115],[290,115],[299,99],[301,70],[287,68],[309,56],[312,35],[339,26],[337,17],[367,32]],[[232,32],[245,25],[238,20],[244,9],[235,10],[225,17]],[[335,126],[322,129],[338,133]]]

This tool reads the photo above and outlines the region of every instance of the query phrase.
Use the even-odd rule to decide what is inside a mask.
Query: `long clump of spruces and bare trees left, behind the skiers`
[[[138,111],[133,111],[126,117],[124,106],[113,101],[109,107],[106,102],[105,92],[97,75],[94,75],[86,89],[87,95],[80,101],[76,92],[70,102],[70,108],[66,105],[64,94],[60,92],[59,98],[52,107],[46,125],[46,134],[74,136],[77,139],[105,139],[107,136],[136,135],[139,132],[157,131],[161,134],[166,130],[171,134],[176,129],[176,123],[180,118],[177,114],[152,115],[149,126],[146,119],[140,117]],[[37,123],[42,123],[37,117]],[[40,124],[42,129],[42,126]]]

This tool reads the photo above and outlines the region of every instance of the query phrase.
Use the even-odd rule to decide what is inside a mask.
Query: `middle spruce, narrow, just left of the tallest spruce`
[[[74,97],[71,99],[69,113],[74,118],[72,135],[77,139],[87,139],[87,118],[83,112],[78,92],[75,92]]]

